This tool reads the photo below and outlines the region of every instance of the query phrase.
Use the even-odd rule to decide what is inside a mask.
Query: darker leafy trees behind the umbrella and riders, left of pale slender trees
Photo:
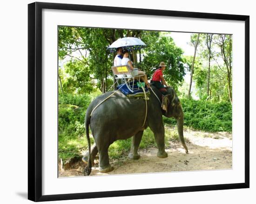
[[[97,80],[98,88],[106,92],[113,84],[113,79],[112,81],[110,79],[113,55],[107,51],[107,48],[122,37],[138,37],[146,43],[147,47],[141,50],[140,62],[137,59],[137,52],[131,56],[131,59],[146,71],[149,79],[155,67],[164,61],[167,64],[165,71],[167,82],[177,88],[183,81],[185,75],[183,51],[175,45],[170,36],[162,35],[161,32],[68,26],[59,26],[58,29],[59,59],[70,59],[60,76],[63,78],[63,89],[66,92],[91,92],[92,87],[89,85],[94,84],[93,79]],[[74,70],[71,71],[72,69]],[[66,77],[67,80],[64,79],[63,74],[69,75]],[[74,77],[75,79],[71,79]]]

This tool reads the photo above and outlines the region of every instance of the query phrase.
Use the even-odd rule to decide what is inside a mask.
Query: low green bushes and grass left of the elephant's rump
[[[85,112],[91,100],[100,93],[95,91],[91,94],[75,96],[59,94],[58,151],[59,157],[64,161],[70,157],[80,156],[88,146],[84,126]],[[91,142],[93,143],[93,139]]]

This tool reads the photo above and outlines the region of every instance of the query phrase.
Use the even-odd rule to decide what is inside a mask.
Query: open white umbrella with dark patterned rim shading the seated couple
[[[110,52],[115,52],[116,48],[118,47],[122,47],[123,49],[126,48],[128,51],[132,51],[146,47],[146,44],[141,39],[134,37],[120,38],[115,40],[115,42],[108,47],[108,50]]]

